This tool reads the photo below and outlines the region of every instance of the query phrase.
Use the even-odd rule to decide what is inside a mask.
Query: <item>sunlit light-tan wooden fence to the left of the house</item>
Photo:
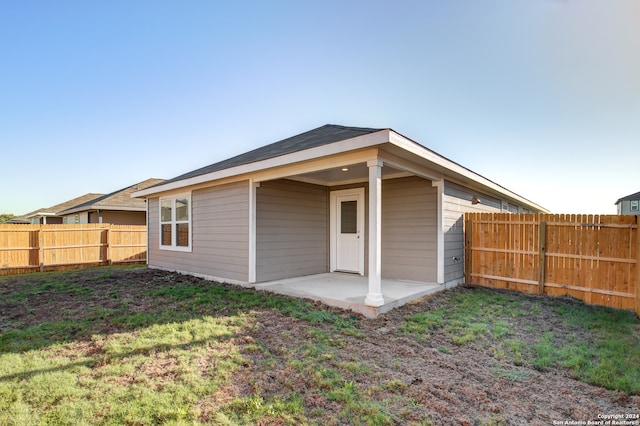
[[[0,225],[0,275],[144,263],[142,225]]]

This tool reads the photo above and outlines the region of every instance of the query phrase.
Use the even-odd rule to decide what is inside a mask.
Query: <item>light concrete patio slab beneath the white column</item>
[[[369,280],[367,277],[358,274],[332,272],[259,283],[255,284],[254,288],[286,296],[319,301],[328,306],[360,313],[367,318],[376,318],[378,315],[412,300],[448,288],[445,284],[383,278],[382,296],[384,303],[380,306],[370,306],[365,303],[369,291],[368,285]]]

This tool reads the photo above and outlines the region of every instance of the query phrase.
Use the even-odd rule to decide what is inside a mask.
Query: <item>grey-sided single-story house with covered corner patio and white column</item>
[[[393,285],[464,281],[464,212],[547,212],[392,129],[330,124],[133,196],[149,267],[265,289],[322,277],[312,298],[358,278],[342,301],[374,317],[423,294]]]

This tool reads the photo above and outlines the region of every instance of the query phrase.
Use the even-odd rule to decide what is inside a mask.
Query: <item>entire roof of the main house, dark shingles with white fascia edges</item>
[[[259,172],[313,158],[372,148],[385,144],[393,146],[394,152],[396,153],[408,152],[417,155],[425,161],[425,164],[428,164],[430,168],[439,173],[454,175],[459,178],[459,180],[482,185],[495,193],[502,194],[519,203],[524,203],[535,210],[542,212],[547,211],[544,207],[441,156],[435,151],[403,136],[393,129],[346,127],[334,124],[326,124],[279,142],[185,173],[145,190],[137,191],[133,196],[145,197],[151,194],[185,188],[217,179]],[[437,179],[437,177],[434,176],[434,179]]]

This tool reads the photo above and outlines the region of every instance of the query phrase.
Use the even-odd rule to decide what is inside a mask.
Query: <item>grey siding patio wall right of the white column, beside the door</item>
[[[382,181],[382,276],[437,280],[438,194],[431,181]]]

